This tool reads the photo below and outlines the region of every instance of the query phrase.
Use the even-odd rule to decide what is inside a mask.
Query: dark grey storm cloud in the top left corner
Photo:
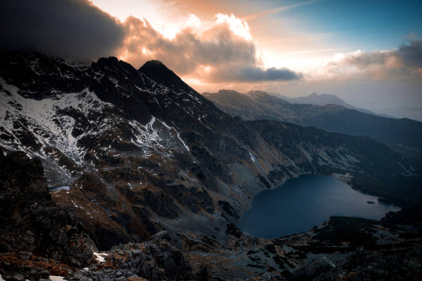
[[[123,26],[88,0],[0,2],[0,48],[30,49],[70,59],[110,56]]]

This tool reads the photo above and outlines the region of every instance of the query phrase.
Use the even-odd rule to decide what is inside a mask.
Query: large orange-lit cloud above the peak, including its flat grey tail
[[[213,22],[195,17],[173,39],[157,32],[146,19],[129,17],[120,58],[140,66],[159,59],[178,74],[194,74],[202,81],[291,81],[301,79],[286,68],[263,69],[248,23],[233,14],[216,14]]]

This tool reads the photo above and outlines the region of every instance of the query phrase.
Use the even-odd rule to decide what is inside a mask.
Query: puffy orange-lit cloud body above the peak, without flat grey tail
[[[159,59],[179,74],[187,74],[199,65],[256,63],[254,43],[234,34],[228,23],[218,23],[203,32],[185,28],[174,39],[163,37],[145,19],[129,17],[124,26],[128,35],[121,58],[136,66]]]

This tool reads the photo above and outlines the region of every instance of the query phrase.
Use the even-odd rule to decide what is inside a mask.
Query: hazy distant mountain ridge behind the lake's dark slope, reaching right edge
[[[319,127],[329,132],[365,135],[406,155],[422,156],[422,123],[419,121],[374,116],[334,104],[292,104],[261,91],[241,94],[220,90],[203,95],[221,110],[244,120],[270,119]]]

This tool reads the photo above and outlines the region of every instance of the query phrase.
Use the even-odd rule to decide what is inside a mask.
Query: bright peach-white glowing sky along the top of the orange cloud
[[[265,16],[276,12],[292,10],[301,6],[312,5],[317,1],[305,1],[294,5],[270,8],[265,3],[252,5],[239,1],[134,1],[123,0],[117,5],[114,1],[94,0],[93,3],[103,10],[117,16],[121,21],[127,17],[148,20],[152,28],[166,39],[174,39],[177,32],[194,25],[204,29],[211,28],[218,21],[230,23],[230,29],[241,37],[254,41],[257,56],[263,67],[289,67],[297,72],[309,68],[310,59],[319,56],[291,56],[292,52],[306,52],[309,49],[328,49],[321,44],[323,39],[332,34],[305,34],[292,30],[292,26],[283,19],[268,19]],[[118,7],[117,7],[118,6]],[[262,19],[262,21],[261,21]],[[303,43],[305,42],[305,44]],[[156,58],[160,59],[160,58]],[[272,61],[272,63],[271,63]],[[286,64],[288,63],[288,64]]]

